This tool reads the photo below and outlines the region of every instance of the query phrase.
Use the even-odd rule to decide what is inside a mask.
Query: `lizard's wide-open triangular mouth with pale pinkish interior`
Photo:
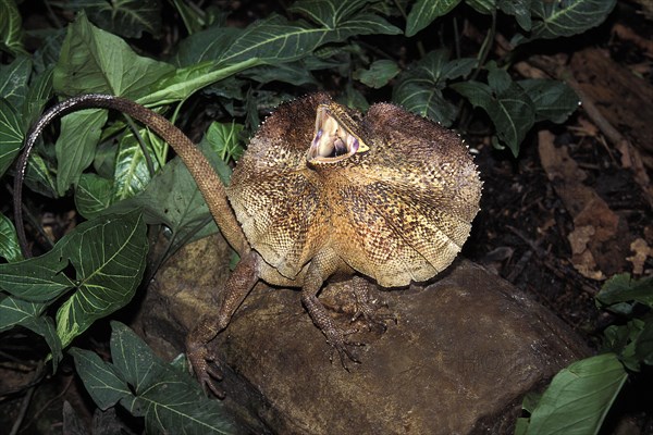
[[[368,146],[344,125],[347,119],[347,114],[338,110],[337,105],[320,104],[318,107],[316,135],[308,150],[309,162],[338,162],[357,152],[369,150]]]

